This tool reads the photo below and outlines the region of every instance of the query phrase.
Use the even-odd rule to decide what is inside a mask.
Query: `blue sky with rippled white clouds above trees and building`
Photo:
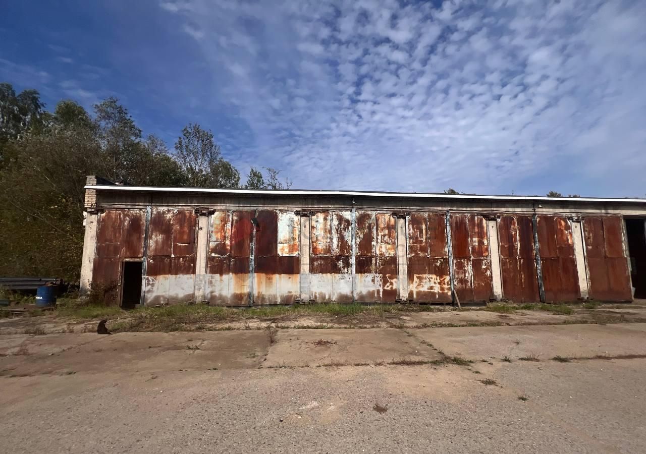
[[[3,2],[0,81],[294,188],[646,194],[643,1]]]

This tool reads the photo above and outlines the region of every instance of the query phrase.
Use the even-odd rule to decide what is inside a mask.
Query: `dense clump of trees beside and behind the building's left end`
[[[189,125],[176,154],[141,129],[116,98],[94,115],[72,100],[45,112],[36,90],[0,84],[0,275],[76,281],[83,250],[85,178],[136,185],[238,187],[240,174],[210,131]],[[282,189],[278,170],[252,169],[248,187]]]

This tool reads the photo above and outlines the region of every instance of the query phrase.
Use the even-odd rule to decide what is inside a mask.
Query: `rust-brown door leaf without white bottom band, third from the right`
[[[501,216],[498,236],[503,296],[514,302],[539,301],[532,218]]]

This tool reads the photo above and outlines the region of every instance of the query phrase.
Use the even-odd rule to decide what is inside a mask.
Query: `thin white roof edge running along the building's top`
[[[470,199],[470,200],[542,200],[542,201],[596,201],[596,202],[638,202],[646,203],[646,199],[636,198],[595,198],[595,197],[541,197],[541,196],[481,196],[476,194],[433,194],[423,192],[370,192],[370,191],[322,191],[322,190],[267,190],[267,189],[216,189],[194,187],[162,187],[162,186],[121,186],[121,185],[86,185],[85,189],[100,191],[131,191],[131,192],[205,192],[211,194],[264,194],[281,196],[368,196],[368,197],[408,197],[428,199]]]

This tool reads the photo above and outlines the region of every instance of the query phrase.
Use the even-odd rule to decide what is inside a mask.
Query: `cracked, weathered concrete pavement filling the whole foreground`
[[[0,336],[0,450],[641,453],[645,336],[646,324]],[[389,358],[433,362],[376,366]]]

